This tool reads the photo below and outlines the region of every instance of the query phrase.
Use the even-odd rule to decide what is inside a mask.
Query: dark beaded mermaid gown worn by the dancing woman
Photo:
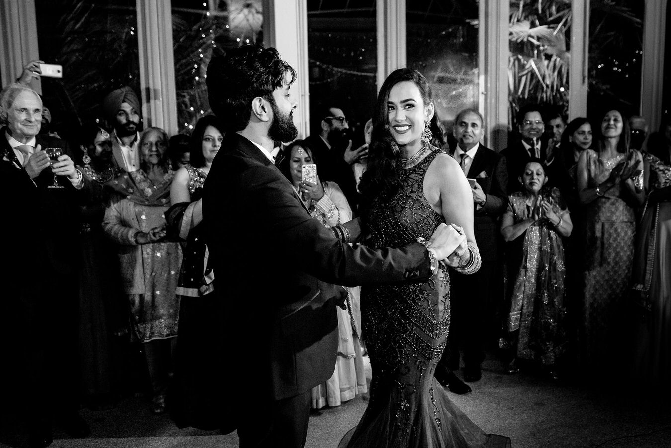
[[[372,247],[399,247],[429,238],[444,218],[424,196],[423,179],[440,150],[399,171],[391,201],[375,201],[368,225]],[[341,446],[509,447],[510,439],[484,433],[448,398],[433,377],[450,328],[446,265],[425,283],[362,290],[362,320],[372,366],[370,402]],[[350,433],[352,433],[350,431]],[[351,438],[350,438],[351,437]]]

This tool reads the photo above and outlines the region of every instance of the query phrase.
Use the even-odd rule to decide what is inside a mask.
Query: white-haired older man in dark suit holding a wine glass
[[[11,341],[2,349],[8,377],[0,383],[7,400],[0,402],[18,406],[28,420],[30,446],[45,447],[52,441],[52,420],[72,436],[89,433],[77,413],[76,206],[84,179],[62,140],[38,135],[42,100],[30,87],[12,84],[0,93],[0,122],[7,213],[0,221],[7,244],[0,331],[3,341]],[[51,165],[45,148],[63,154]],[[51,188],[54,175],[62,188]]]

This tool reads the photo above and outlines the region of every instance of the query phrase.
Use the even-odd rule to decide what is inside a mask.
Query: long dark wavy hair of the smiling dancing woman
[[[360,212],[364,218],[368,215],[374,199],[389,201],[399,189],[396,164],[401,152],[389,132],[389,114],[386,103],[391,88],[401,81],[412,81],[417,85],[424,105],[433,101],[429,83],[424,75],[415,69],[397,69],[384,80],[375,103],[373,132],[368,146],[368,168],[359,187],[362,193]]]

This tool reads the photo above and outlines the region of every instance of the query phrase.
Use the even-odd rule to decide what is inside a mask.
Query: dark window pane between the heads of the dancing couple
[[[319,133],[319,116],[326,104],[342,105],[363,140],[377,97],[377,39],[375,0],[308,0],[312,133]]]

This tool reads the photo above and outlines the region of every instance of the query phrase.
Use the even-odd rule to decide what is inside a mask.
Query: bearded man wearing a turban
[[[125,171],[140,169],[140,101],[128,86],[111,91],[103,100],[103,112],[112,128],[112,160]]]

